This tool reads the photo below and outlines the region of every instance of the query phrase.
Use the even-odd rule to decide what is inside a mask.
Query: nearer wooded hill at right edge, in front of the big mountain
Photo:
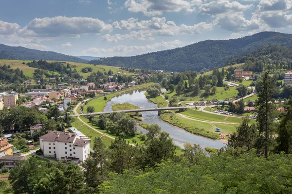
[[[291,70],[292,47],[268,46],[231,60],[227,65],[242,64],[245,71],[261,72],[265,69]]]

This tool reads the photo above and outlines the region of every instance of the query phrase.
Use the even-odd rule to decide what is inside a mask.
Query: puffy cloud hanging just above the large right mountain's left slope
[[[242,12],[217,16],[213,22],[214,25],[232,32],[252,31],[260,27],[260,22],[257,19],[247,20]]]

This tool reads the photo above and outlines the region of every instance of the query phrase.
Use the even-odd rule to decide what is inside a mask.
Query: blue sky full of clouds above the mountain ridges
[[[0,43],[74,56],[292,32],[292,0],[1,0],[0,7]]]

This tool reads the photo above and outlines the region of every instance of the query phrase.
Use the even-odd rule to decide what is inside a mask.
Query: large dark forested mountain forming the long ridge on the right
[[[292,34],[260,32],[230,40],[206,40],[182,48],[131,57],[110,57],[92,60],[89,64],[148,68],[153,70],[185,71],[211,70],[255,49],[292,45]]]

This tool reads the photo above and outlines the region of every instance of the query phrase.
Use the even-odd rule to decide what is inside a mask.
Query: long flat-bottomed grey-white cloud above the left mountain
[[[24,29],[35,32],[39,36],[57,37],[109,32],[112,27],[97,18],[55,16],[35,18]]]

